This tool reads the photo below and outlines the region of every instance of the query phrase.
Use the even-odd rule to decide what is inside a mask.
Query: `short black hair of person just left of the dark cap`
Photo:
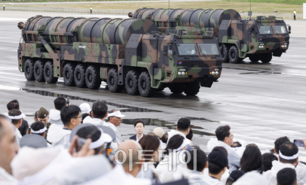
[[[196,159],[194,159],[194,152],[196,152]],[[198,146],[193,146],[193,149],[189,151],[190,153],[190,161],[187,163],[187,166],[190,170],[196,170],[196,171],[202,171],[207,162],[207,156],[206,153],[201,150]],[[185,156],[185,162],[188,160],[188,155]],[[196,160],[196,169],[194,169],[193,163],[194,160]]]

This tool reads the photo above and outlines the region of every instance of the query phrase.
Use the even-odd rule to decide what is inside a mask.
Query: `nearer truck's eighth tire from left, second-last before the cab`
[[[129,95],[139,95],[138,89],[139,74],[132,70],[127,72],[125,77],[125,89]]]

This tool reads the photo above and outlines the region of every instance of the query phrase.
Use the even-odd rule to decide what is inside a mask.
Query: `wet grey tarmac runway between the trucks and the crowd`
[[[172,95],[166,88],[154,98],[143,98],[125,92],[110,93],[103,86],[98,90],[67,87],[62,78],[56,84],[27,81],[17,66],[16,50],[21,37],[17,22],[32,14],[15,12],[6,17],[0,14],[0,112],[7,112],[6,104],[18,99],[20,110],[31,124],[40,107],[54,108],[57,96],[68,96],[75,105],[105,100],[109,110],[122,110],[127,115],[118,128],[123,140],[135,134],[131,124],[137,118],[148,124],[145,126],[148,133],[157,126],[168,131],[179,118],[189,117],[194,130],[193,143],[205,151],[216,128],[227,124],[232,128],[234,140],[256,143],[261,150],[272,149],[278,137],[288,136],[292,141],[306,137],[306,38],[291,37],[287,53],[273,57],[270,64],[250,63],[248,58],[243,64],[223,64],[219,82],[211,88],[202,87],[195,97]],[[294,23],[297,32],[302,32],[305,21]],[[300,153],[306,156],[303,148]]]

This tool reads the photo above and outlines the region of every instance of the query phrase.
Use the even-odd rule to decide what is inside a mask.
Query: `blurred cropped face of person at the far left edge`
[[[0,184],[17,184],[11,168],[11,162],[18,152],[14,132],[11,121],[0,114]]]

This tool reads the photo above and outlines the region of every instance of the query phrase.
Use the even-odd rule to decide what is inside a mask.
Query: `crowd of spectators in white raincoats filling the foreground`
[[[185,117],[176,129],[146,134],[137,120],[136,134],[123,141],[125,115],[104,101],[76,106],[58,97],[54,109],[35,112],[30,127],[17,100],[7,109],[0,114],[0,184],[306,185],[306,165],[286,136],[261,151],[234,142],[224,125],[205,152]]]

